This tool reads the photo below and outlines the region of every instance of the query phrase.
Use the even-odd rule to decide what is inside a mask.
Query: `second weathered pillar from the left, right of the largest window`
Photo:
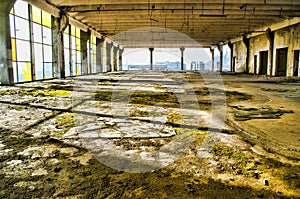
[[[68,17],[61,15],[60,18],[52,17],[52,39],[53,39],[53,75],[56,78],[65,78],[65,56],[64,56],[64,31],[69,24]]]

